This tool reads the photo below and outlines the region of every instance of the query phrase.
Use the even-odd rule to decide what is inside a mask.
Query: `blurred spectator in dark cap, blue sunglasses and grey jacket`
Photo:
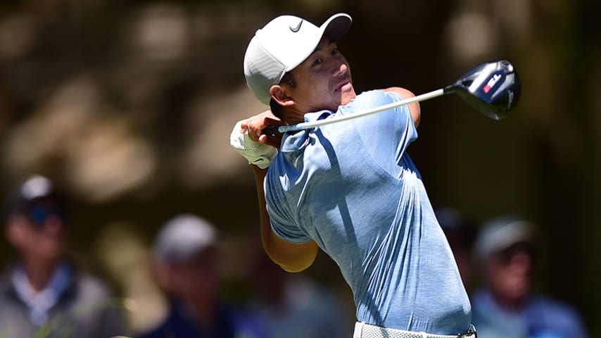
[[[0,337],[108,338],[125,316],[99,279],[65,256],[65,196],[34,175],[8,196],[4,232],[18,261],[0,279]]]

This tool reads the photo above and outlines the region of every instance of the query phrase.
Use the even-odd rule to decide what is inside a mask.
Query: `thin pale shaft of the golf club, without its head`
[[[441,96],[446,94],[445,89],[437,89],[432,92],[427,92],[425,94],[421,94],[418,96],[414,96],[410,99],[405,99],[403,101],[393,102],[391,104],[385,104],[384,106],[378,106],[374,108],[365,109],[363,111],[358,111],[357,113],[352,113],[348,115],[335,115],[332,118],[326,118],[324,120],[316,120],[311,122],[303,122],[297,123],[296,125],[280,125],[277,127],[277,132],[279,134],[284,134],[284,132],[298,132],[299,130],[311,129],[315,127],[320,127],[322,125],[329,125],[331,123],[338,123],[341,121],[350,120],[353,118],[360,118],[365,115],[371,115],[373,113],[379,113],[381,111],[387,111],[388,109],[405,106],[407,104],[412,104],[414,102],[426,101],[429,99],[433,99],[434,97]],[[275,131],[275,128],[271,129],[270,127],[265,128],[265,134],[270,134],[270,131]]]

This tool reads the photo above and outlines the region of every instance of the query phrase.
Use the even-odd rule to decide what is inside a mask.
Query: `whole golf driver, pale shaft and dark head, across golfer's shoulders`
[[[521,82],[514,66],[506,60],[488,61],[476,65],[465,73],[455,83],[426,94],[421,94],[411,99],[385,104],[384,106],[358,111],[349,115],[335,115],[332,118],[312,122],[298,123],[296,125],[272,125],[263,130],[264,134],[284,134],[284,132],[297,132],[322,125],[329,125],[343,120],[359,118],[361,116],[386,111],[398,106],[413,102],[426,101],[444,94],[457,94],[476,111],[492,118],[501,120],[516,106],[521,93]]]

